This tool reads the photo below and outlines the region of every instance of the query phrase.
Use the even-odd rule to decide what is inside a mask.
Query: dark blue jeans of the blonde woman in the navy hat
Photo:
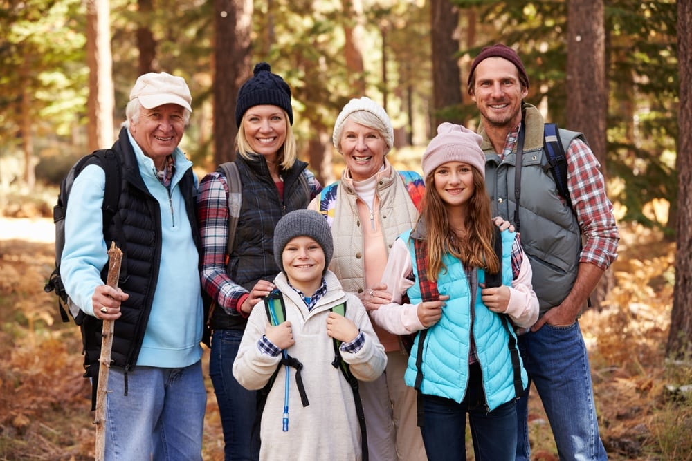
[[[257,392],[248,391],[233,377],[233,362],[242,337],[242,330],[214,330],[209,356],[209,375],[224,429],[226,461],[260,459],[259,427],[253,434]]]

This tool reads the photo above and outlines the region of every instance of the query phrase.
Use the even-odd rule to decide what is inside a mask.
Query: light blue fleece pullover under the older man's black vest
[[[199,342],[203,309],[197,267],[199,256],[178,183],[183,173],[192,168],[192,162],[180,149],[175,149],[176,172],[169,196],[156,176],[153,160],[144,155],[129,131],[127,134],[140,176],[149,193],[158,200],[162,232],[158,284],[136,365],[189,366],[197,363],[202,355]],[[105,182],[103,169],[96,165],[84,168],[75,179],[66,211],[65,247],[60,265],[60,274],[72,301],[92,316],[91,297],[95,288],[104,283],[100,272],[108,262],[101,219]]]

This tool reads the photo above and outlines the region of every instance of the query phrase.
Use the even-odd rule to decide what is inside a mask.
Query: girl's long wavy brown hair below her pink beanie
[[[449,253],[466,267],[482,267],[491,274],[500,270],[500,261],[493,249],[495,224],[491,217],[490,198],[485,190],[483,176],[475,167],[473,185],[475,191],[468,200],[466,214],[466,238],[459,241],[449,226],[448,209],[435,189],[435,169],[426,176],[426,191],[417,226],[424,223],[428,243],[428,280],[436,281],[446,271],[442,256]]]

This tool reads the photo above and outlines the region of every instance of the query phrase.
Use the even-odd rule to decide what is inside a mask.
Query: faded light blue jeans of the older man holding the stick
[[[198,361],[185,368],[111,368],[105,459],[200,460],[207,392]]]

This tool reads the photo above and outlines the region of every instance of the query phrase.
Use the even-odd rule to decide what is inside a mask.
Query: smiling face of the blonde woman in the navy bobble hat
[[[248,109],[243,115],[243,129],[251,150],[267,160],[275,160],[286,141],[286,120],[286,113],[279,106],[262,104]]]

